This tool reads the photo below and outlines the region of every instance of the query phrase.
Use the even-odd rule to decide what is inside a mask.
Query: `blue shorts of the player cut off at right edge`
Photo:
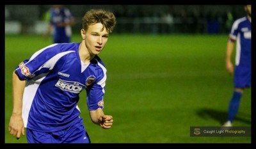
[[[251,86],[251,68],[237,66],[234,72],[234,87],[249,88]]]

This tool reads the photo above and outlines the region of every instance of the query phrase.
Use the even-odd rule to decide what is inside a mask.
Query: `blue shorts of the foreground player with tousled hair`
[[[28,143],[91,143],[84,129],[83,119],[57,132],[38,132],[27,129],[27,139]]]

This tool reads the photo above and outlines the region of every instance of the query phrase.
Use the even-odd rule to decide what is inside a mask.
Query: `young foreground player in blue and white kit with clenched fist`
[[[13,71],[10,134],[25,134],[28,143],[90,143],[79,117],[79,93],[86,90],[93,123],[110,129],[105,115],[106,67],[98,54],[115,27],[112,12],[90,10],[83,17],[80,43],[54,43],[35,52]]]

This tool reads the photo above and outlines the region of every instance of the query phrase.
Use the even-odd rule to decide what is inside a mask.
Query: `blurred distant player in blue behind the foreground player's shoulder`
[[[49,13],[50,20],[45,38],[48,38],[52,33],[53,43],[69,43],[72,35],[71,27],[75,24],[75,19],[70,10],[56,4],[49,10]]]

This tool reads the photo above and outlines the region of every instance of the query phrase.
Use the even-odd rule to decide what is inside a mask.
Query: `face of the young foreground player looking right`
[[[93,24],[88,27],[85,33],[85,46],[90,54],[97,55],[105,47],[108,42],[108,31],[101,23]]]

